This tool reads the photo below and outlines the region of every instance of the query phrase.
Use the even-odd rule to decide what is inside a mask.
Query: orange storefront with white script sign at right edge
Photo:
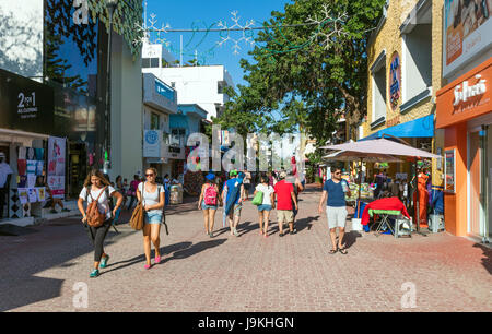
[[[436,128],[445,131],[446,230],[492,237],[492,58],[436,93]]]

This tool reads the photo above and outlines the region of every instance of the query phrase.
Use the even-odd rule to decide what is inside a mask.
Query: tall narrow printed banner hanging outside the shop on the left
[[[48,186],[56,199],[65,198],[66,143],[63,138],[48,139]]]

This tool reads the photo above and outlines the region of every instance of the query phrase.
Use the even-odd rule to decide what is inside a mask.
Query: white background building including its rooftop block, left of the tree
[[[207,111],[208,120],[223,111],[230,98],[224,88],[234,87],[224,65],[172,67],[176,60],[162,45],[144,45],[142,60],[143,73],[153,73],[177,91],[178,105],[198,105]],[[167,67],[163,65],[162,60]]]

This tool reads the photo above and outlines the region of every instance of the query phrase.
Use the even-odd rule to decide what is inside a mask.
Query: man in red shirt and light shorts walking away
[[[294,212],[297,207],[297,199],[294,193],[294,186],[285,182],[286,172],[280,172],[280,181],[273,187],[277,198],[277,219],[279,222],[280,237],[283,237],[283,223],[289,223],[289,230],[291,235],[295,234],[294,230]],[[294,203],[294,205],[292,205]]]

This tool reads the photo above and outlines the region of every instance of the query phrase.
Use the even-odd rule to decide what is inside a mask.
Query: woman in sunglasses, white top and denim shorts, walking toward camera
[[[143,217],[143,250],[145,252],[145,269],[151,267],[151,241],[155,250],[155,264],[161,262],[160,234],[162,223],[162,210],[165,203],[165,190],[162,184],[155,182],[157,170],[148,168],[145,170],[145,182],[139,184],[137,199],[142,202],[144,210]]]

